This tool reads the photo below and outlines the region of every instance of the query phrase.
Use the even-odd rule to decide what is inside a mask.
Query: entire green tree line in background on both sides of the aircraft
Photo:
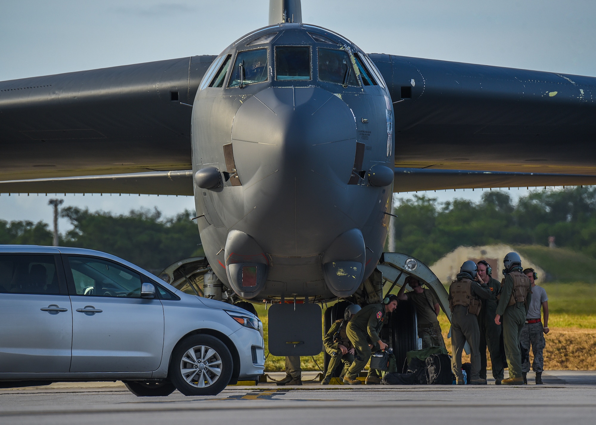
[[[498,190],[485,191],[479,202],[414,196],[398,199],[394,213],[396,251],[426,264],[461,245],[548,245],[549,236],[557,246],[596,258],[596,189],[589,187],[530,192],[516,204]],[[114,215],[66,207],[61,215],[73,229],[61,235],[60,245],[110,252],[150,270],[203,253],[190,211],[162,217],[158,210]],[[42,221],[0,220],[0,243],[51,245],[52,232]]]

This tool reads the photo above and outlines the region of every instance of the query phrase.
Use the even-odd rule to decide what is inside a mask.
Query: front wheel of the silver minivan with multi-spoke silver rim
[[[193,369],[197,372],[193,373]],[[168,377],[184,395],[216,395],[228,385],[233,369],[228,347],[215,336],[199,334],[176,345]],[[183,374],[183,370],[187,373]]]

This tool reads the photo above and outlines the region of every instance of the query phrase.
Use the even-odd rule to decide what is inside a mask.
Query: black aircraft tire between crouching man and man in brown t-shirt
[[[405,373],[406,352],[418,349],[418,330],[416,329],[416,308],[409,301],[399,302],[398,308],[390,319],[393,335],[393,354],[398,371]],[[402,370],[403,367],[403,370]]]

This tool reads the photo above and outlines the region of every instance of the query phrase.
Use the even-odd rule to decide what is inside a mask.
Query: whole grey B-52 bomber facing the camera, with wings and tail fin
[[[367,54],[271,0],[218,56],[0,82],[0,192],[193,195],[224,293],[312,304],[371,276],[393,192],[596,183],[595,117],[595,78]]]

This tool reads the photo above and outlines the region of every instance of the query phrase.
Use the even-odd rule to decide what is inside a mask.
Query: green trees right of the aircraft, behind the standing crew
[[[506,192],[488,190],[479,202],[398,199],[396,251],[433,264],[461,245],[492,243],[557,246],[596,257],[596,189],[541,190],[513,204]]]

